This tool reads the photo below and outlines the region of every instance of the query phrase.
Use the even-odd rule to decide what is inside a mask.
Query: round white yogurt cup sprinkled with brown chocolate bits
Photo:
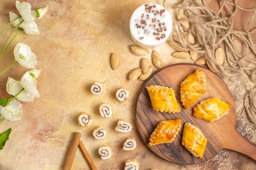
[[[155,49],[166,42],[172,27],[170,13],[159,4],[143,4],[130,18],[132,40],[144,49]]]

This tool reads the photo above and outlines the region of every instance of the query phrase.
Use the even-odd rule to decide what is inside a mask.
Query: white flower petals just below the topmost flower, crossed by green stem
[[[16,17],[18,17],[18,15],[13,12],[9,12],[9,16],[10,16],[10,22],[14,20]],[[11,24],[13,24],[13,26],[17,26],[22,20],[23,20],[22,18],[19,18],[18,20],[15,20]],[[39,29],[36,22],[25,22],[24,20],[19,27],[22,28],[22,30],[25,31],[25,33],[28,35],[39,34]]]

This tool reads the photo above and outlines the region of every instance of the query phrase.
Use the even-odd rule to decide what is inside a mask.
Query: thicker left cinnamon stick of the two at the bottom
[[[72,143],[70,145],[70,148],[67,152],[67,157],[63,166],[63,170],[70,170],[76,155],[76,150],[81,138],[81,133],[75,132],[74,137],[72,139]]]

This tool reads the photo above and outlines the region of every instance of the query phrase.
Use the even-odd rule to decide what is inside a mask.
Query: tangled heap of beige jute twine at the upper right
[[[250,29],[255,20],[256,7],[245,9],[237,4],[237,0],[233,2],[220,0],[219,5],[220,9],[216,13],[207,7],[204,0],[182,0],[181,3],[176,4],[173,8],[177,9],[177,15],[183,13],[187,18],[182,18],[173,24],[170,41],[174,44],[173,36],[176,35],[182,45],[180,47],[174,44],[176,47],[184,51],[197,51],[207,57],[207,61],[216,73],[241,77],[247,90],[244,107],[250,120],[256,124],[256,44],[252,41],[256,28]],[[233,29],[234,17],[239,10],[252,13],[245,31]],[[182,26],[182,22],[189,22],[190,28]],[[193,35],[196,43],[189,44],[184,41],[183,32]],[[243,44],[245,51],[238,52],[234,40]],[[216,60],[215,51],[218,47],[225,49],[224,65]]]

